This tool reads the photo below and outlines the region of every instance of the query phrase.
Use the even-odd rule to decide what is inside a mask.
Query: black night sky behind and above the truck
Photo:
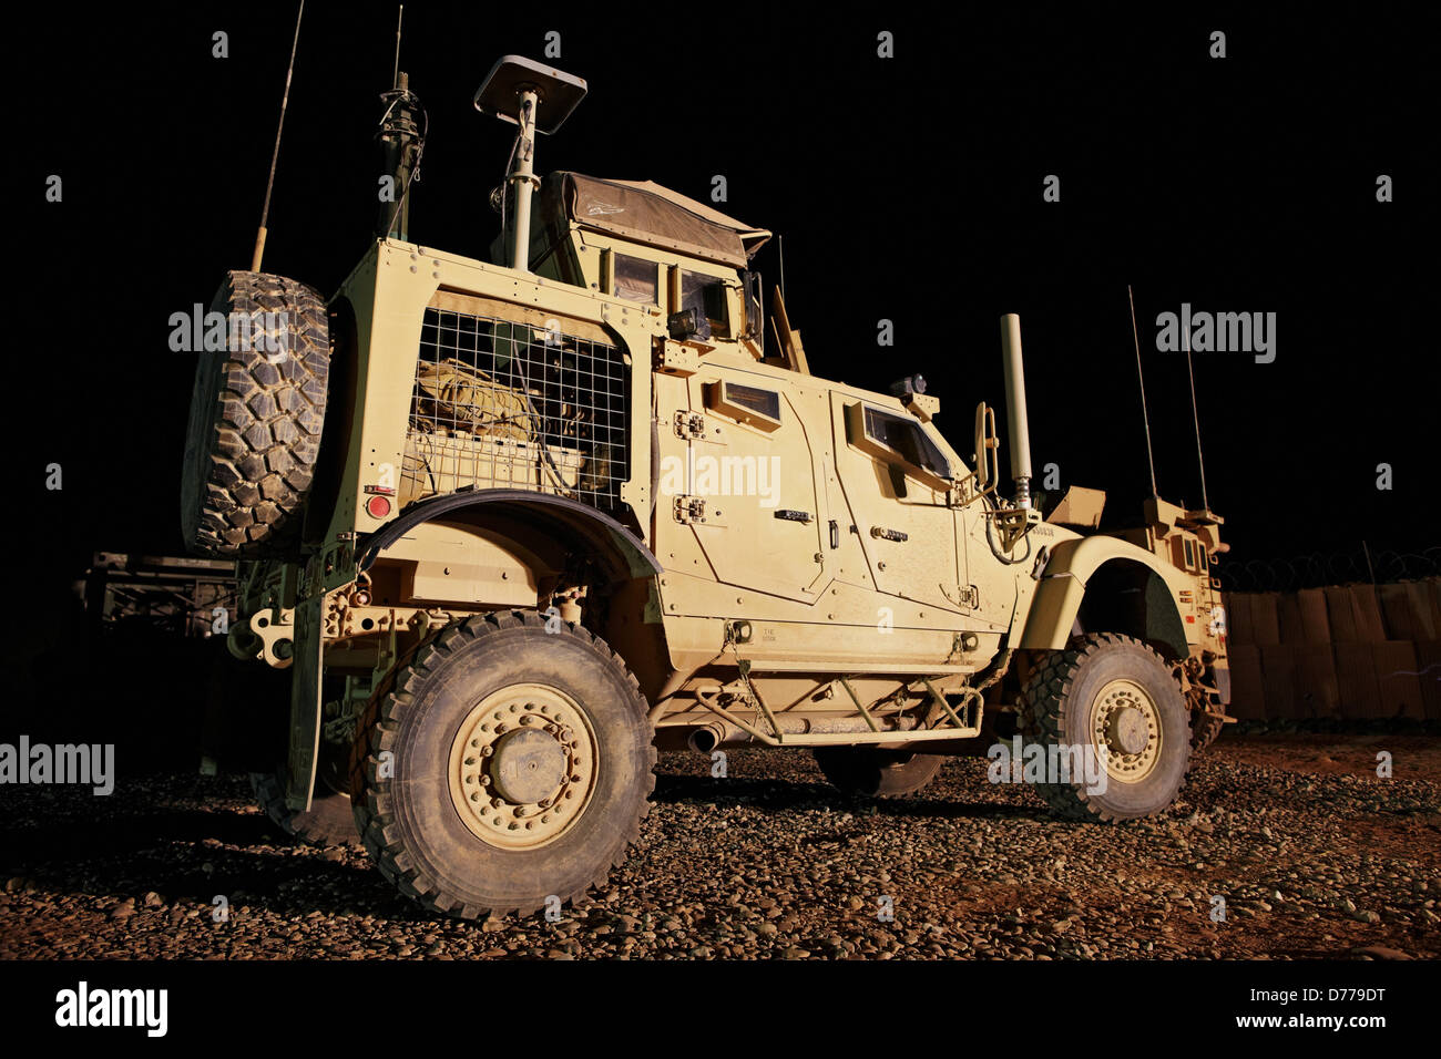
[[[517,14],[512,14],[514,9]],[[1406,9],[996,13],[896,4],[408,3],[401,68],[429,112],[411,236],[486,256],[513,128],[471,97],[497,56],[591,95],[537,169],[651,179],[785,236],[817,375],[921,372],[970,451],[1003,403],[997,316],[1022,314],[1038,475],[1148,494],[1127,284],[1161,496],[1199,506],[1186,363],[1156,316],[1274,311],[1277,359],[1197,353],[1210,506],[1232,562],[1435,543],[1431,36]],[[246,268],[295,6],[52,4],[12,39],[7,552],[36,614],[95,549],[183,553],[193,354],[169,317]],[[329,294],[365,252],[392,3],[311,0],[265,269]],[[212,58],[212,33],[229,58]],[[876,35],[895,35],[893,59]],[[1208,56],[1212,30],[1228,56]],[[1395,202],[1376,202],[1378,174]],[[45,200],[63,179],[63,202]],[[1042,200],[1046,174],[1061,202]],[[777,242],[758,255],[778,278]],[[895,347],[876,321],[895,321]],[[1004,431],[1004,422],[1001,424]],[[1004,454],[1003,454],[1004,460]],[[63,490],[45,467],[63,467]],[[1395,488],[1376,488],[1389,463]]]

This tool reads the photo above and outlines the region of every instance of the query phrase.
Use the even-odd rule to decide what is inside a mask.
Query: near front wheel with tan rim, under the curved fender
[[[1166,810],[1186,782],[1190,712],[1170,669],[1128,635],[1084,635],[1046,657],[1022,692],[1022,735],[1048,762],[1082,748],[1104,749],[1102,784],[1084,774],[1048,774],[1036,792],[1071,820],[1115,823]],[[1074,756],[1072,756],[1074,761]]]

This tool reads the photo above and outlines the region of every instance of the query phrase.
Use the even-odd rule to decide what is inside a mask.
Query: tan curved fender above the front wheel
[[[1036,586],[1019,647],[1050,651],[1063,648],[1071,638],[1088,582],[1105,563],[1117,560],[1143,566],[1154,576],[1146,578],[1146,627],[1107,631],[1124,631],[1146,640],[1159,640],[1177,657],[1185,657],[1189,644],[1179,598],[1183,589],[1193,586],[1193,579],[1167,566],[1153,553],[1115,537],[1082,537],[1062,540],[1055,546]],[[1199,635],[1197,633],[1197,640]]]

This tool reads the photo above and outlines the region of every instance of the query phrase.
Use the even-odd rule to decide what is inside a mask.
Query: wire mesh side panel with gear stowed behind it
[[[618,507],[628,373],[615,346],[428,307],[401,504],[474,487]]]

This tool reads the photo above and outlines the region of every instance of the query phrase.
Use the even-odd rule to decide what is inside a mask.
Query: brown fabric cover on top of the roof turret
[[[745,268],[771,233],[742,225],[705,203],[650,180],[561,177],[566,216],[578,225],[624,239]]]

